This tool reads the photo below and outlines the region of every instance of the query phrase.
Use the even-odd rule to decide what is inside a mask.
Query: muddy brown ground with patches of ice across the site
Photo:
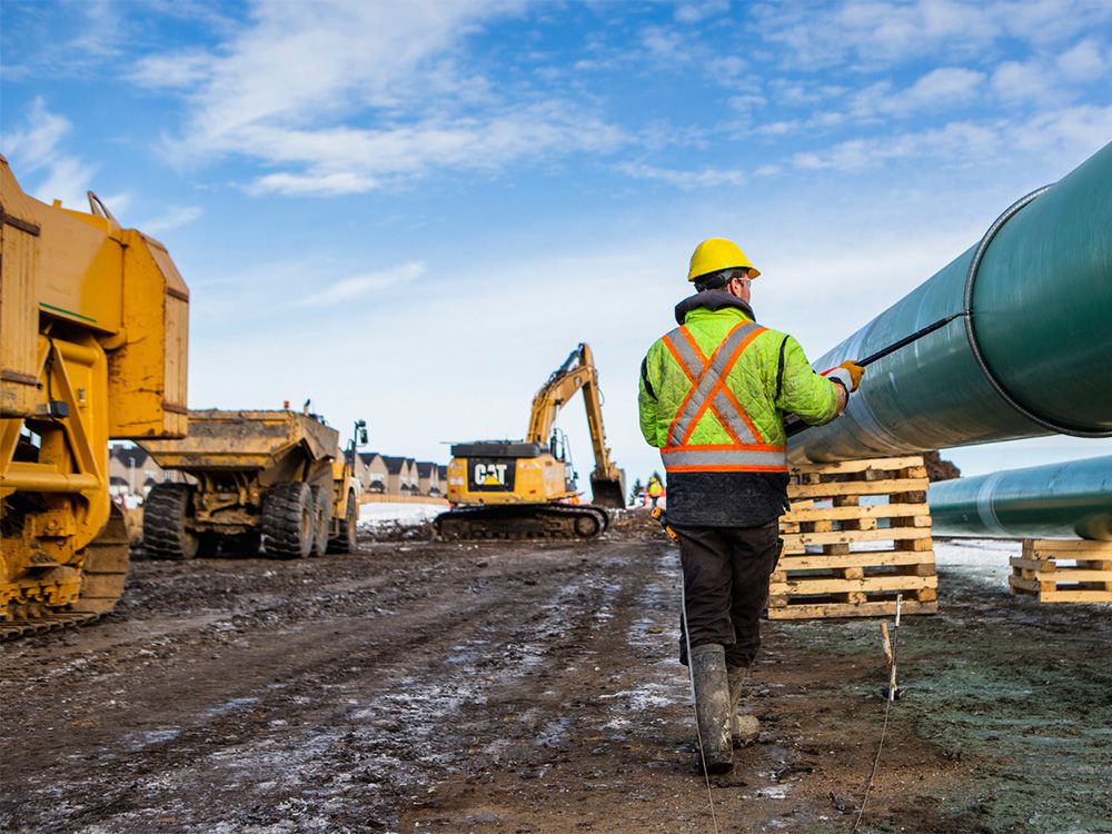
[[[643,525],[137,560],[107,620],[0,646],[0,830],[709,832],[713,800],[723,832],[851,831],[877,622],[767,623],[761,739],[708,791]],[[1112,832],[1112,607],[940,574],[861,831]]]

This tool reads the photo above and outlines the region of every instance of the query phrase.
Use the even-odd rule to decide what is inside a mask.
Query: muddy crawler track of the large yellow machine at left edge
[[[130,549],[123,516],[115,507],[108,526],[85,548],[81,595],[64,608],[32,603],[0,619],[0,642],[96,623],[116,607],[127,579]]]

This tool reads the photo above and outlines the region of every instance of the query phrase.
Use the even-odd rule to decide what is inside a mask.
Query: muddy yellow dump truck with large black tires
[[[356,424],[357,438],[366,429]],[[217,549],[305,558],[355,549],[359,484],[339,433],[298,411],[189,413],[189,435],[141,444],[191,483],[153,486],[143,502],[143,547],[156,558]]]

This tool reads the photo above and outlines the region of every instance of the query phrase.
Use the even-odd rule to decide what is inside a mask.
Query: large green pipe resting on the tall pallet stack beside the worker
[[[870,366],[845,415],[792,438],[792,461],[1112,436],[1112,145],[1016,202],[977,246],[815,367],[865,357],[954,314]]]

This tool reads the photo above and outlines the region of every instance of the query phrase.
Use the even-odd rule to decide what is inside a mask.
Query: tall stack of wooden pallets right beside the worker
[[[937,610],[926,468],[920,456],[792,468],[770,619]],[[884,503],[866,496],[882,496]]]

